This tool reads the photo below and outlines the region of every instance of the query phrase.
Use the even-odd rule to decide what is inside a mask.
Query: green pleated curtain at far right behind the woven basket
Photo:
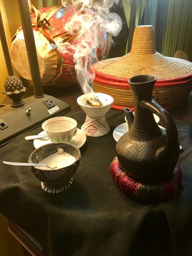
[[[162,54],[173,57],[178,50],[192,61],[192,1],[168,0]]]

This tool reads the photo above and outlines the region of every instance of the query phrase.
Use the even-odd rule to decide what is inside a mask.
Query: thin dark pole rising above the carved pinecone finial
[[[6,40],[6,36],[5,36],[4,26],[3,26],[3,20],[2,20],[2,16],[1,16],[1,10],[0,10],[0,39],[1,39],[1,45],[3,48],[3,53],[4,53],[4,58],[5,58],[8,75],[14,76],[11,59],[10,59],[10,55],[9,55],[9,49],[7,46],[7,40]]]

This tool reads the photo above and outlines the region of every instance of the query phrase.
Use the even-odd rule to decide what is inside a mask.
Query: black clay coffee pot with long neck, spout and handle
[[[128,83],[135,115],[125,108],[129,131],[116,144],[119,163],[127,175],[139,182],[169,180],[179,158],[178,132],[169,113],[152,99],[156,76],[133,76]],[[165,129],[158,126],[153,113],[159,116]]]

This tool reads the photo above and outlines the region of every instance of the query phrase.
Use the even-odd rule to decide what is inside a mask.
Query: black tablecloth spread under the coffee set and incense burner
[[[69,115],[78,128],[83,111]],[[124,123],[123,111],[106,114],[110,132],[87,137],[74,183],[61,194],[48,194],[29,167],[0,163],[0,212],[34,236],[47,256],[192,255],[191,124],[176,120],[183,147],[183,177],[177,195],[167,202],[145,205],[125,196],[110,175],[116,156],[113,130]],[[37,134],[41,127],[26,134]],[[25,135],[0,148],[5,161],[28,162],[34,150]]]

